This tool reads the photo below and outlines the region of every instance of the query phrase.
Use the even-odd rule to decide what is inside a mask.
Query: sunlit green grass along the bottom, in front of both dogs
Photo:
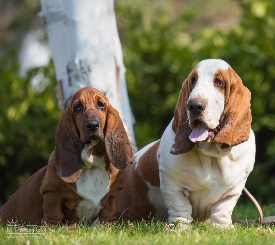
[[[264,216],[275,215],[275,206],[265,206]],[[237,205],[233,219],[257,217],[253,206]],[[8,238],[7,228],[0,228],[0,244],[275,244],[275,227],[213,229],[206,224],[193,224],[192,228],[180,231],[168,230],[164,222],[125,222],[103,224],[96,227],[81,224],[74,230],[66,227],[48,228],[46,238]]]

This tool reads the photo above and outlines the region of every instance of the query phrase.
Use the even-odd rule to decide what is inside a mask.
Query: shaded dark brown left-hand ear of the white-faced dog
[[[186,153],[192,150],[195,145],[195,143],[190,141],[188,137],[192,131],[189,126],[187,116],[187,100],[192,90],[190,86],[190,79],[191,76],[189,75],[182,84],[182,89],[180,90],[180,95],[178,97],[178,102],[175,108],[172,129],[176,136],[170,150],[170,153],[173,155]]]

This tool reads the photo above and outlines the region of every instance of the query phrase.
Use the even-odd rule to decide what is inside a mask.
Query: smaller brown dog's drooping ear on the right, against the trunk
[[[134,153],[119,113],[110,104],[105,123],[105,150],[110,162],[123,169],[134,160]]]

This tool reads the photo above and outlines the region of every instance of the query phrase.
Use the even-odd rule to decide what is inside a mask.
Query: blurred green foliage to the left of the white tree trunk
[[[16,52],[0,59],[0,202],[34,172],[45,166],[55,148],[60,118],[54,83],[36,93],[30,80],[38,70],[19,78]],[[12,63],[12,64],[11,64]],[[55,80],[53,65],[44,75]]]

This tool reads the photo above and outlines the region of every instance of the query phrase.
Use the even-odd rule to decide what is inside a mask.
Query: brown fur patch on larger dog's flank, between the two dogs
[[[123,214],[123,218],[138,220],[154,216],[156,210],[148,199],[147,194],[149,189],[145,181],[153,186],[160,186],[157,160],[159,145],[160,141],[156,142],[140,157],[138,163],[134,162],[132,165],[126,167],[125,188],[119,192],[117,202],[118,217]],[[136,164],[137,167],[135,169]]]

